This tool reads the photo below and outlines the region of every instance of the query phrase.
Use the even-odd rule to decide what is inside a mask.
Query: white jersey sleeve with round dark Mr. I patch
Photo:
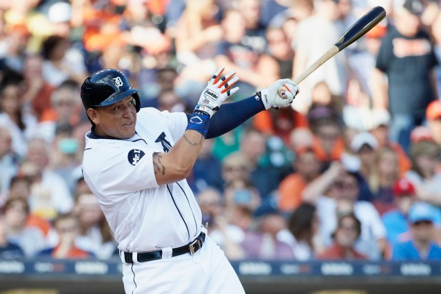
[[[154,150],[141,145],[109,143],[85,152],[83,175],[93,192],[106,198],[158,187],[154,176]]]

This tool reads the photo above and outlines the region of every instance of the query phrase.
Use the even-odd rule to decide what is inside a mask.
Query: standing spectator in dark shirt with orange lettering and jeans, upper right
[[[407,153],[411,130],[422,125],[427,105],[437,97],[433,70],[438,62],[431,37],[421,25],[423,12],[421,0],[404,1],[393,10],[393,25],[382,39],[376,60],[376,87],[380,90],[373,98],[391,112],[390,138]]]

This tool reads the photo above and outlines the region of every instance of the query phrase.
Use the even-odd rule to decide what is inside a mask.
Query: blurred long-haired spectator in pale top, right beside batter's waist
[[[96,258],[110,258],[116,249],[116,243],[95,196],[92,193],[79,195],[72,213],[79,220],[79,235],[75,239],[75,245],[79,249],[90,251]]]

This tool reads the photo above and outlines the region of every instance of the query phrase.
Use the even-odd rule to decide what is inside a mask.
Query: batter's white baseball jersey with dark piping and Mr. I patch
[[[130,252],[176,247],[201,231],[199,209],[187,180],[158,186],[152,154],[168,151],[187,127],[184,113],[143,108],[127,140],[85,136],[83,175],[114,232]]]

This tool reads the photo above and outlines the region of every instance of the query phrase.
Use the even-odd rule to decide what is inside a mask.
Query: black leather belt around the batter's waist
[[[198,252],[199,249],[202,248],[202,245],[205,241],[205,233],[201,232],[201,234],[198,235],[198,238],[194,239],[192,242],[190,242],[187,245],[176,247],[172,249],[172,257],[183,255],[185,253],[194,254]],[[133,254],[131,252],[125,252],[122,251],[121,254],[124,254],[124,260],[128,264],[133,264]],[[140,252],[138,253],[138,262],[149,262],[151,260],[161,260],[163,258],[163,251],[157,250],[157,251],[150,251],[150,252]]]

